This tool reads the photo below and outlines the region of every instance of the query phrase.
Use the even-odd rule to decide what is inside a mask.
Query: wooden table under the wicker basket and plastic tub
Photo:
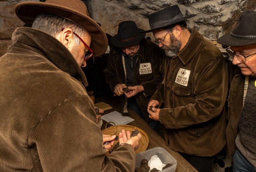
[[[101,99],[101,101],[110,104],[113,109],[107,110],[104,112],[104,114],[108,114],[112,111],[118,111],[120,112],[120,106],[114,99]],[[148,134],[149,138],[149,144],[147,149],[151,149],[154,147],[163,147],[167,152],[169,152],[177,161],[177,168],[176,172],[184,171],[184,172],[190,172],[190,171],[197,171],[187,160],[185,160],[179,153],[173,151],[170,149],[170,147],[166,146],[165,140],[155,132],[142,118],[139,117],[134,111],[131,109],[128,109],[131,116],[130,118],[133,118],[134,121],[130,122],[127,125],[136,126],[143,131],[145,131]],[[104,115],[103,114],[103,115]],[[101,129],[105,129],[106,121],[103,120],[103,125]],[[111,125],[112,126],[112,125]]]

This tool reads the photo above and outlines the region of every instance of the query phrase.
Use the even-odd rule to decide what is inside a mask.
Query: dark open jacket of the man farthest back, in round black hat
[[[155,93],[157,85],[162,82],[163,79],[162,74],[160,73],[162,58],[163,52],[155,43],[147,39],[143,39],[140,42],[140,52],[133,73],[133,85],[142,85],[144,88],[144,91],[138,93],[135,97],[147,122],[153,120],[148,117],[148,102],[150,97]],[[140,65],[143,63],[151,64],[151,73],[140,74]],[[121,50],[118,47],[113,47],[110,50],[108,66],[104,70],[104,74],[106,75],[106,82],[113,93],[117,84],[126,83]],[[123,107],[125,103],[125,95],[123,94],[122,97],[121,106]]]

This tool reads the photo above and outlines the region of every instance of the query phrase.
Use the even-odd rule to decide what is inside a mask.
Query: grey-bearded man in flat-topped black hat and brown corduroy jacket
[[[220,50],[196,29],[188,29],[178,5],[148,16],[155,42],[166,58],[164,81],[148,104],[150,118],[164,125],[166,144],[198,171],[211,171],[225,145],[228,72]],[[162,105],[164,104],[163,108]],[[152,108],[150,106],[160,108]]]

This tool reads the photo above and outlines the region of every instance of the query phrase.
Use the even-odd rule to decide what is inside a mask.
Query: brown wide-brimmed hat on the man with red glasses
[[[42,13],[67,18],[86,30],[92,37],[90,47],[94,56],[104,54],[108,48],[108,39],[100,26],[89,17],[87,8],[81,0],[47,0],[46,2],[22,2],[15,6],[15,13],[21,21],[32,25]]]

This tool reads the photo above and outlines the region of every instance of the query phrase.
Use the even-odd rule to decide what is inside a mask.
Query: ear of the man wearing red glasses
[[[70,28],[65,28],[57,35],[57,39],[66,47],[69,48],[73,41],[73,32]]]

